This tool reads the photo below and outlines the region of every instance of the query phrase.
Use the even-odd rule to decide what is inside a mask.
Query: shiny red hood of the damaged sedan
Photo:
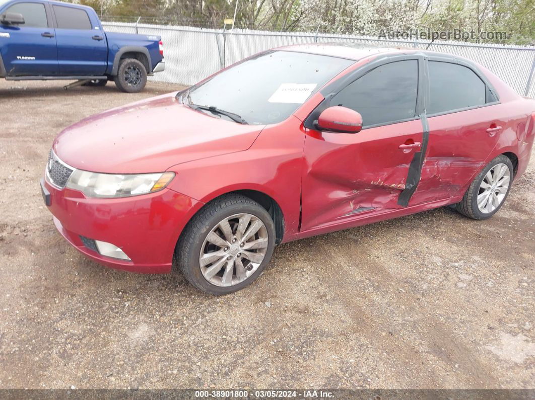
[[[176,93],[90,116],[62,131],[52,148],[68,165],[94,172],[161,172],[180,163],[247,150],[264,126],[195,111]]]

